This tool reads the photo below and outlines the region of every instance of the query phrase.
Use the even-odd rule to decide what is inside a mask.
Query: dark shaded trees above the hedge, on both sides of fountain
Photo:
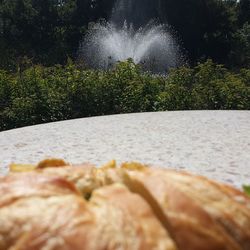
[[[16,70],[24,59],[47,66],[75,59],[88,24],[109,19],[114,2],[0,0],[0,68]],[[249,66],[250,0],[135,0],[131,9],[127,18],[137,26],[151,18],[168,22],[191,64],[212,58]]]

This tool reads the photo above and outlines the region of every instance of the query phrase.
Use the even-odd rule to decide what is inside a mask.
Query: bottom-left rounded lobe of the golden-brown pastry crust
[[[0,220],[1,250],[91,249],[95,236],[95,217],[72,195],[19,199],[0,210]]]

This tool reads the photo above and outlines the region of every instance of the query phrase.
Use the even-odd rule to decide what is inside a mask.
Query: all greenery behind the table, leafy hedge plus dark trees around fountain
[[[96,71],[78,49],[115,0],[0,0],[0,130],[124,112],[250,109],[250,0],[136,0],[167,22],[188,65],[167,76],[132,61]],[[133,17],[131,20],[133,21]],[[223,66],[222,66],[223,65]]]

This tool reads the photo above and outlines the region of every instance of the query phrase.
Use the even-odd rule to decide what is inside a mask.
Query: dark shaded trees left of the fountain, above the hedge
[[[103,1],[2,0],[0,2],[0,67],[27,56],[53,65],[75,57],[88,22],[107,16]]]

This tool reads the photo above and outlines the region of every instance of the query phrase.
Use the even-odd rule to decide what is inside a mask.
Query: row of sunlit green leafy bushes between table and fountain
[[[167,76],[132,61],[113,70],[77,65],[0,71],[0,130],[65,119],[129,112],[250,109],[250,70],[232,73],[211,60]]]

